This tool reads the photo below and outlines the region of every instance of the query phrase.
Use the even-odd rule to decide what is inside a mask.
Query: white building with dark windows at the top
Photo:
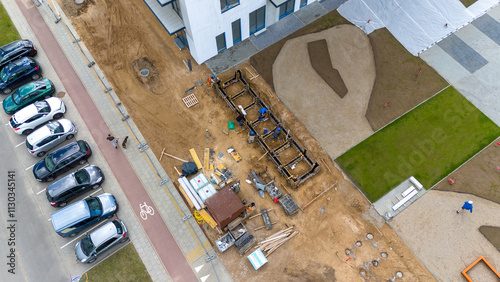
[[[317,0],[144,0],[198,64]]]

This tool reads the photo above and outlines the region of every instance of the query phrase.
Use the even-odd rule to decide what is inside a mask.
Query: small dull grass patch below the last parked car
[[[134,245],[128,244],[87,272],[88,281],[121,282],[152,281]],[[82,281],[84,281],[83,276]]]

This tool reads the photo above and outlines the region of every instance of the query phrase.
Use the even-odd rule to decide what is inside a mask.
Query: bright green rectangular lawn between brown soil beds
[[[336,162],[374,202],[415,176],[426,189],[500,136],[500,128],[448,87]]]

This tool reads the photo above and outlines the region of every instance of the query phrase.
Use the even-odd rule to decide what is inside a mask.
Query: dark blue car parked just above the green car
[[[29,80],[38,80],[40,77],[42,77],[42,67],[38,62],[28,57],[22,57],[10,62],[0,70],[0,91],[9,94]]]

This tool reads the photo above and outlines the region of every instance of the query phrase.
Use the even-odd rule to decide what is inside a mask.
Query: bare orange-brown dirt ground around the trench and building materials
[[[269,197],[261,199],[244,179],[251,168],[262,170],[268,166],[278,183],[286,184],[285,180],[269,160],[257,161],[262,150],[256,144],[248,145],[246,133],[236,133],[238,126],[229,135],[221,132],[235,115],[215,92],[207,88],[207,94],[205,86],[196,88],[191,93],[196,94],[200,104],[189,109],[181,101],[184,92],[193,87],[195,81],[206,81],[209,71],[204,65],[194,65],[192,72],[186,69],[182,60],[190,58],[188,51],[177,49],[173,38],[168,36],[142,1],[93,0],[86,1],[83,6],[75,6],[69,0],[59,1],[158,157],[163,148],[184,159],[190,159],[190,148],[202,155],[203,148],[207,147],[205,130],[208,129],[215,137],[215,141],[209,142],[208,146],[216,154],[224,152],[221,161],[242,180],[238,196],[255,202],[257,210],[277,207]],[[245,66],[249,64],[245,63],[240,68]],[[138,76],[138,70],[143,67],[148,67],[152,73],[148,78]],[[226,80],[232,75],[228,72],[221,79]],[[365,264],[370,270],[369,275],[378,280],[387,280],[396,271],[403,272],[407,281],[433,280],[403,241],[374,215],[362,194],[344,179],[304,125],[274,94],[269,94],[264,79],[261,76],[253,80],[252,87],[263,93],[266,103],[272,105],[273,112],[292,129],[294,138],[308,149],[311,157],[318,162],[324,159],[331,169],[329,172],[320,162],[322,171],[292,191],[293,198],[304,205],[334,182],[337,182],[337,190],[324,194],[306,213],[299,212],[288,217],[277,209],[271,214],[271,219],[278,223],[270,231],[253,231],[263,225],[259,218],[249,222],[250,233],[259,240],[282,229],[284,223],[295,225],[300,233],[274,252],[269,257],[269,263],[259,271],[255,271],[245,257],[239,256],[235,248],[220,254],[233,279],[361,281],[366,278],[360,275]],[[241,162],[236,163],[227,156],[225,151],[230,146],[240,153]],[[252,156],[257,158],[252,160]],[[174,165],[180,167],[181,163],[164,158],[162,164],[172,179],[176,179]],[[323,215],[321,207],[324,207]],[[368,233],[373,234],[377,247],[365,240]],[[213,230],[207,231],[207,234],[212,241],[217,238]],[[362,246],[354,249],[354,256],[345,262],[348,259],[345,249],[351,248],[357,241],[361,241]],[[368,266],[368,262],[379,258],[381,252],[386,252],[388,257],[382,258],[378,267]]]

